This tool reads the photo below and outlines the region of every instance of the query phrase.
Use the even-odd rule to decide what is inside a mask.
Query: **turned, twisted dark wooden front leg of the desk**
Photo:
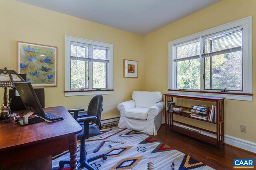
[[[76,134],[69,136],[70,168],[77,170]]]

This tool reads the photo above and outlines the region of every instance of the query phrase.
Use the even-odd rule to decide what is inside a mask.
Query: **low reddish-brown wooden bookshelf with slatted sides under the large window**
[[[165,122],[166,122],[165,125],[166,125],[166,129],[170,128],[171,130],[175,130],[177,132],[186,134],[188,136],[191,136],[193,138],[202,140],[204,142],[208,142],[210,144],[214,144],[216,146],[220,146],[220,145],[224,144],[224,99],[225,99],[224,97],[211,97],[211,96],[183,95],[183,94],[176,94],[176,93],[168,93],[168,94],[164,94],[164,98],[165,98],[165,103],[166,103],[166,101],[173,101],[173,98],[216,102],[216,109],[217,109],[216,110],[217,111],[216,112],[216,115],[217,115],[216,123],[190,117],[190,113],[186,113],[186,112],[182,112],[182,113],[168,112],[165,109]],[[188,107],[184,107],[184,108],[188,109]],[[182,122],[179,122],[179,121],[175,121],[173,119],[173,115],[178,115],[178,116],[187,117],[187,118],[190,118],[190,119],[196,119],[198,121],[204,121],[204,122],[207,122],[207,123],[216,124],[216,132],[211,131],[211,130],[207,130],[207,129],[204,129],[204,128],[188,125],[186,123],[182,123]],[[204,134],[200,134],[198,132],[194,132],[192,130],[188,130],[188,129],[185,129],[185,128],[182,128],[182,127],[178,127],[178,126],[174,125],[174,123],[179,123],[179,124],[186,125],[186,126],[189,126],[189,127],[192,127],[192,128],[196,128],[196,129],[199,129],[199,130],[203,130],[203,131],[206,131],[206,132],[209,132],[209,133],[212,133],[212,134],[216,134],[216,138],[206,136]]]

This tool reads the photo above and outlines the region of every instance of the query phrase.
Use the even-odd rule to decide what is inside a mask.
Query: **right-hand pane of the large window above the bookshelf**
[[[204,89],[243,91],[242,28],[202,38]]]

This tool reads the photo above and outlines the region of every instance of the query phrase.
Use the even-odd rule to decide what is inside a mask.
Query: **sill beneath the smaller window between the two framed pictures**
[[[114,94],[114,90],[84,90],[84,91],[64,91],[65,96],[84,96],[84,95],[108,95]]]

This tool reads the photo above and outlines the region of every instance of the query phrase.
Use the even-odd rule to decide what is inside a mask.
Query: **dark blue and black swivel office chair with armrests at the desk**
[[[87,110],[87,117],[81,117],[77,118],[76,121],[82,126],[84,129],[82,132],[78,133],[76,135],[77,140],[80,140],[80,160],[78,161],[77,168],[87,168],[88,170],[96,170],[93,166],[89,164],[89,162],[92,162],[96,159],[103,158],[103,160],[107,159],[107,156],[105,154],[100,154],[97,156],[94,156],[92,158],[86,158],[86,150],[85,150],[85,139],[88,139],[92,136],[97,136],[100,134],[100,118],[102,113],[102,102],[103,97],[102,95],[96,95],[92,98],[92,100],[89,103],[88,110]],[[70,112],[79,112],[84,111],[84,109],[72,109],[69,110]],[[93,122],[98,127],[94,126],[94,124],[89,123]],[[63,168],[65,164],[70,164],[70,161],[63,161],[61,160],[59,162],[60,168]]]

